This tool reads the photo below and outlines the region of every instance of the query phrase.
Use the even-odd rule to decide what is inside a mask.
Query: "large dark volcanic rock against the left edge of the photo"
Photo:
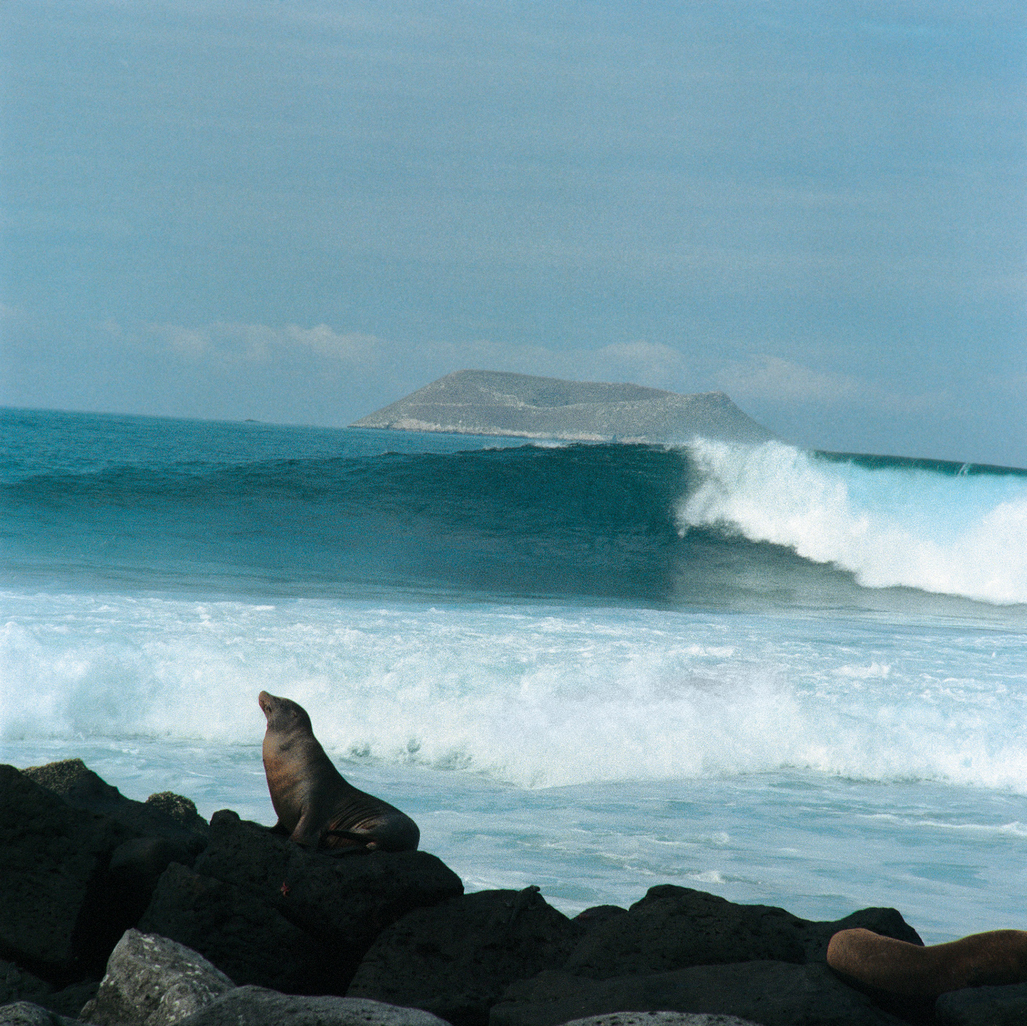
[[[13,766],[0,766],[0,955],[51,982],[99,962],[98,932],[110,919],[111,854],[132,832],[108,816],[73,808]],[[118,936],[127,923],[116,924]]]

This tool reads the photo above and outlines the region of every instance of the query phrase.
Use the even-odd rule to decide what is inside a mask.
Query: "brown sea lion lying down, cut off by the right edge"
[[[1027,931],[992,930],[921,947],[869,930],[842,930],[828,964],[890,994],[938,997],[949,990],[1027,981]]]

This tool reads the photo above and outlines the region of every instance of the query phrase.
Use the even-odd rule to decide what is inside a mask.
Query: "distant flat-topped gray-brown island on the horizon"
[[[501,370],[456,370],[350,427],[595,442],[685,442],[696,435],[764,442],[777,437],[723,392],[680,395],[641,385]]]

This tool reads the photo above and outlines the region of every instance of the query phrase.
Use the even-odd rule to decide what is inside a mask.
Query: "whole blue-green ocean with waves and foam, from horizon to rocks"
[[[272,824],[267,689],[468,890],[1027,928],[1027,472],[0,410],[0,761]]]

